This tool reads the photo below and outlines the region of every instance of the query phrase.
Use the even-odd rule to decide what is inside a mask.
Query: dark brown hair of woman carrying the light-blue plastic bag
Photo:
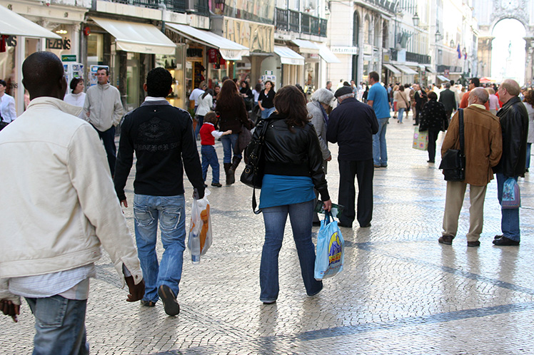
[[[289,130],[292,126],[304,127],[309,121],[306,98],[296,86],[286,85],[274,96],[274,107],[280,115],[286,116]]]

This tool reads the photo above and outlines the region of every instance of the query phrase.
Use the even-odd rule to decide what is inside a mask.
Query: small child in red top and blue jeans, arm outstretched
[[[232,134],[232,130],[220,132],[215,129],[217,124],[217,115],[210,111],[204,115],[204,123],[200,130],[201,136],[201,155],[202,155],[202,177],[206,181],[208,173],[208,165],[211,165],[211,186],[221,187],[218,182],[219,164],[217,153],[215,151],[215,138],[220,138],[222,135]]]

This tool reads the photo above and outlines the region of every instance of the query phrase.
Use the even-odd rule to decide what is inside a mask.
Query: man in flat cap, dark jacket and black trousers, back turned
[[[338,215],[340,227],[352,227],[356,216],[354,178],[358,178],[358,216],[360,227],[371,227],[373,217],[373,134],[378,132],[375,111],[354,98],[350,87],[334,95],[339,105],[328,118],[326,139],[338,143],[339,195],[345,206]]]

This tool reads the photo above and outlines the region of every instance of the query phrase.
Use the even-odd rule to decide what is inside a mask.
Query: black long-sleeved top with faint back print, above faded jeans
[[[200,197],[204,181],[191,116],[166,100],[143,103],[126,115],[115,165],[115,190],[126,199],[124,186],[136,153],[133,192],[138,195],[182,195],[183,168]],[[182,165],[183,161],[183,165]]]

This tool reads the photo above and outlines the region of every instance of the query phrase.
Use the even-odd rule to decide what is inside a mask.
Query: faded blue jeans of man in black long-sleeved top
[[[158,287],[162,284],[171,287],[173,293],[178,295],[183,251],[186,249],[185,209],[183,195],[133,196],[137,254],[145,279],[145,301],[156,302]],[[156,255],[158,220],[161,243],[165,249],[159,265]]]

